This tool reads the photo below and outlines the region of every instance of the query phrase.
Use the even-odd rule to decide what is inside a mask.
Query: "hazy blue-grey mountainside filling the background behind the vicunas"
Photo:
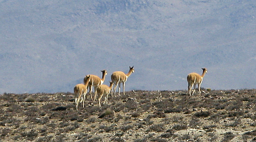
[[[0,0],[0,93],[72,92],[135,72],[126,90],[256,84],[255,0]],[[109,84],[105,82],[104,84]]]

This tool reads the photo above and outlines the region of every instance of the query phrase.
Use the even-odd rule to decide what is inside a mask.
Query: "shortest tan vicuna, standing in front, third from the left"
[[[99,107],[101,107],[101,98],[102,98],[103,95],[106,95],[103,104],[105,104],[105,102],[106,102],[106,104],[108,104],[108,96],[109,96],[110,91],[111,91],[111,89],[113,87],[113,84],[114,84],[113,82],[110,82],[110,86],[102,84],[102,85],[99,85],[97,87],[97,90],[95,91],[95,96],[97,94],[99,94],[99,98],[98,98],[98,100],[99,100],[99,103],[98,103]]]

